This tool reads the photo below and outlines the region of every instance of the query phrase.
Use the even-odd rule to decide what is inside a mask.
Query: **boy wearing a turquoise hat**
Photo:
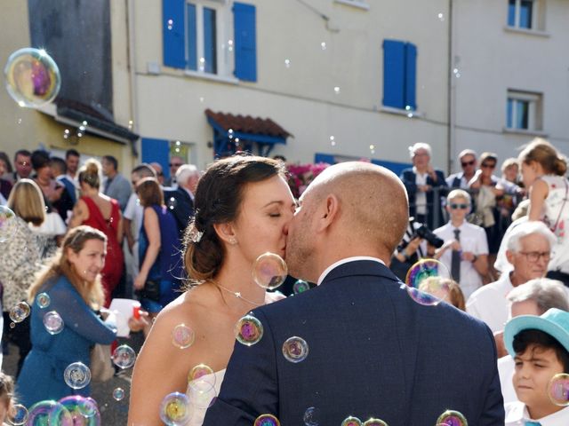
[[[569,424],[566,389],[559,395],[564,405],[554,404],[549,396],[553,377],[569,374],[569,312],[552,308],[540,317],[511,319],[504,329],[504,344],[516,362],[512,382],[517,394],[517,401],[506,405],[505,425]]]

